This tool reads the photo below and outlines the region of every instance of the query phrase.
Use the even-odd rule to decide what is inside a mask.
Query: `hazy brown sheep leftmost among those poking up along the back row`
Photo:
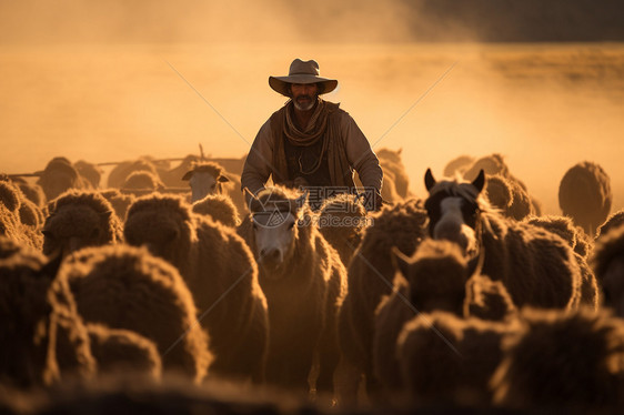
[[[70,189],[91,189],[91,183],[82,178],[66,158],[50,160],[39,174],[37,184],[41,186],[48,201],[52,201]]]

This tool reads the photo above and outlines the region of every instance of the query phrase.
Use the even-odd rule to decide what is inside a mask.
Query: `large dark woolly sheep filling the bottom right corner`
[[[524,310],[503,342],[493,402],[509,409],[560,412],[622,406],[624,322],[606,311]]]

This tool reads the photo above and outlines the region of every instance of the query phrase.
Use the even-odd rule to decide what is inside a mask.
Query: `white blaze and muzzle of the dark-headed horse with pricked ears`
[[[433,239],[457,243],[464,254],[476,250],[474,230],[464,223],[462,198],[446,198],[440,202],[440,221],[433,227]]]

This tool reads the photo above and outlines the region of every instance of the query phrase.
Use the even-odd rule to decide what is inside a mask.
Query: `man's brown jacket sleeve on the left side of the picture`
[[[271,123],[266,121],[260,128],[258,135],[246,156],[241,174],[241,190],[248,188],[253,194],[264,189],[264,183],[271,175],[273,160],[273,142],[271,140]]]

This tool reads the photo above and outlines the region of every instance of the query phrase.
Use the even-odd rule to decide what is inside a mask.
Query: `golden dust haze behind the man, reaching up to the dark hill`
[[[583,160],[624,206],[624,43],[480,42],[456,20],[435,38],[426,1],[335,3],[0,1],[0,171],[240,158],[285,101],[268,77],[302,58],[374,149],[403,149],[416,195],[426,168],[499,152],[545,213]]]

